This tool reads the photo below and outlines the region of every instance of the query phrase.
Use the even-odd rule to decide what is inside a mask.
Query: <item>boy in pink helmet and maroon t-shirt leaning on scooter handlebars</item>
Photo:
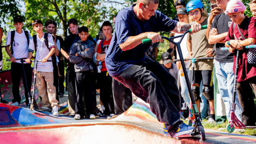
[[[239,50],[239,64],[237,75],[237,95],[242,112],[242,123],[245,126],[255,126],[255,107],[253,91],[256,95],[256,65],[255,49],[243,49],[243,46],[256,43],[256,20],[244,15],[246,7],[240,0],[230,0],[227,3],[226,14],[233,21],[228,30],[225,46],[234,53],[234,66],[236,67],[236,52]],[[252,91],[253,90],[253,91]]]

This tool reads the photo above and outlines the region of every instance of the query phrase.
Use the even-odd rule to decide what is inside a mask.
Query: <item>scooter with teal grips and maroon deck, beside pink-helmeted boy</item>
[[[246,49],[256,48],[256,45],[245,46]],[[228,50],[228,47],[221,48],[221,50],[225,51]],[[256,59],[253,60],[256,62]],[[229,124],[226,126],[227,132],[231,133],[236,129],[244,129],[244,128],[256,128],[256,127],[246,127],[239,119],[236,117],[235,110],[236,110],[236,83],[237,83],[237,75],[238,75],[238,68],[239,68],[239,50],[236,52],[236,69],[235,69],[235,80],[234,80],[234,87],[233,87],[233,95],[232,95],[232,103],[230,109],[230,121]]]

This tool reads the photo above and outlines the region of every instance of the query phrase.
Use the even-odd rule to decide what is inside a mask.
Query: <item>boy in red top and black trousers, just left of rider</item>
[[[102,101],[105,111],[99,118],[108,118],[108,115],[114,114],[114,101],[112,97],[112,77],[108,74],[105,65],[105,56],[112,39],[113,28],[109,21],[102,24],[102,32],[106,36],[98,46],[96,59],[102,62],[102,69],[99,78],[100,100]],[[111,115],[112,116],[112,115]],[[112,117],[110,117],[112,118]]]

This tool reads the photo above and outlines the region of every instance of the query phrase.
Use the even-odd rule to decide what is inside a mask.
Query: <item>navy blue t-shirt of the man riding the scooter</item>
[[[106,67],[111,76],[119,75],[128,67],[146,59],[145,53],[151,43],[141,43],[133,49],[122,51],[119,44],[124,43],[128,37],[144,32],[170,32],[177,25],[177,21],[157,10],[149,20],[142,21],[134,13],[133,6],[135,5],[122,9],[116,16],[115,32],[105,57]]]

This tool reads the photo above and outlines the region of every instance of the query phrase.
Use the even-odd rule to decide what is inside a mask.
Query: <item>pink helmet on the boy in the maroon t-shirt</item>
[[[246,7],[241,0],[230,0],[227,3],[226,14],[236,13],[236,12],[244,12]]]

